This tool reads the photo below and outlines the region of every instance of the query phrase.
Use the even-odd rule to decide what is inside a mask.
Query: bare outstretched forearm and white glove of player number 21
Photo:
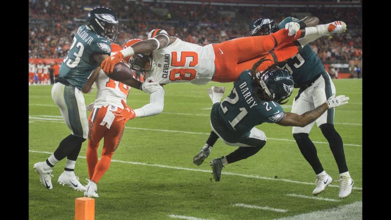
[[[345,95],[338,95],[336,97],[330,97],[325,103],[315,108],[312,111],[305,112],[298,115],[295,113],[287,112],[281,121],[276,122],[280,126],[297,126],[304,127],[318,119],[326,110],[335,108],[348,103],[349,97]]]

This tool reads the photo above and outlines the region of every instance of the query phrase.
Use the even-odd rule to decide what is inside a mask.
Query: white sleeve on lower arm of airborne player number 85
[[[160,114],[164,107],[164,89],[160,87],[156,92],[150,94],[150,103],[141,108],[134,109],[136,118],[148,117]]]

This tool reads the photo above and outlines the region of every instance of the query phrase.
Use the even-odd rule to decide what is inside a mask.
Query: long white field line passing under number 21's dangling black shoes
[[[40,154],[53,154],[51,152],[47,151],[33,151],[29,150],[31,153],[40,153]],[[79,156],[80,158],[86,158],[83,156]],[[119,163],[128,163],[133,165],[144,165],[144,166],[154,166],[154,167],[160,167],[160,168],[169,168],[169,169],[176,169],[176,170],[186,170],[186,171],[196,171],[196,172],[204,172],[204,173],[211,173],[211,170],[201,170],[201,169],[193,169],[193,168],[185,168],[180,166],[167,166],[167,165],[160,165],[160,164],[150,164],[150,163],[142,163],[142,162],[132,162],[132,161],[124,161],[124,160],[118,160],[118,159],[112,159],[112,162],[119,162]],[[240,176],[240,177],[246,177],[246,178],[254,178],[254,179],[261,179],[261,180],[273,180],[273,181],[282,181],[282,182],[288,182],[288,183],[296,183],[296,184],[303,184],[303,185],[314,185],[313,183],[307,183],[307,182],[299,182],[299,181],[293,181],[293,180],[287,180],[287,179],[275,179],[271,177],[260,177],[257,175],[245,175],[240,173],[230,173],[230,172],[221,172],[224,175],[231,175],[231,176]],[[336,185],[329,185],[329,187],[336,187],[339,188],[339,186]],[[362,190],[362,188],[353,187],[353,189],[359,189]]]

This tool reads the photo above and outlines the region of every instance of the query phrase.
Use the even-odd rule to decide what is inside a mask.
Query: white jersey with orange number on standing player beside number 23
[[[130,87],[110,79],[101,69],[95,79],[98,94],[96,94],[94,108],[106,107],[112,104],[118,108],[123,109],[121,99],[126,102]]]

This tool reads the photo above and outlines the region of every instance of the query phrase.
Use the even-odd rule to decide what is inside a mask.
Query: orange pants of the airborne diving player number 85
[[[278,62],[283,61],[278,58],[293,57],[298,53],[298,49],[292,42],[299,39],[300,35],[301,30],[294,36],[288,36],[288,30],[281,29],[265,36],[241,37],[213,44],[216,70],[212,81],[235,82],[243,70],[251,69],[252,65],[263,56],[267,56],[271,62],[264,62],[260,68],[270,66],[274,62],[268,52],[275,47],[277,48],[273,52],[276,54]],[[280,46],[282,47],[278,50]]]

